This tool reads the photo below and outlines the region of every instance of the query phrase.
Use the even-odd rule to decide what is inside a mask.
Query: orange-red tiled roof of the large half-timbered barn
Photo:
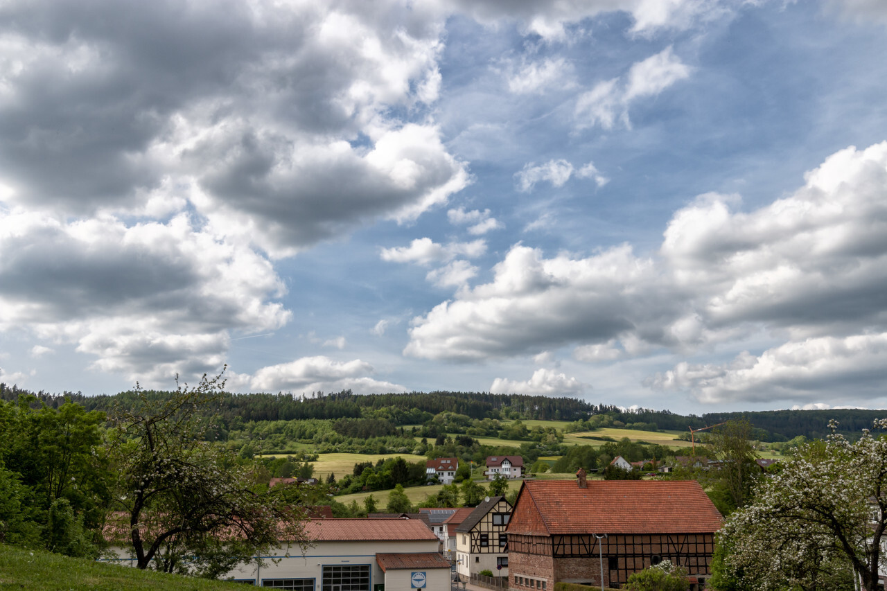
[[[695,480],[525,481],[508,532],[524,532],[524,503],[532,503],[549,534],[710,533],[723,522]],[[545,532],[538,532],[545,533]]]

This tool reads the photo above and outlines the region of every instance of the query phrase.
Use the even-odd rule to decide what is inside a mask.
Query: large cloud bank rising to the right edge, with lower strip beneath
[[[883,384],[887,142],[828,156],[768,205],[745,213],[738,203],[700,196],[675,212],[650,257],[629,245],[546,257],[518,244],[490,282],[413,319],[404,353],[483,362],[576,345],[576,359],[598,362],[758,335],[784,344],[726,366],[687,363],[648,384],[704,402],[803,399],[818,381]],[[816,361],[817,351],[828,355]]]

